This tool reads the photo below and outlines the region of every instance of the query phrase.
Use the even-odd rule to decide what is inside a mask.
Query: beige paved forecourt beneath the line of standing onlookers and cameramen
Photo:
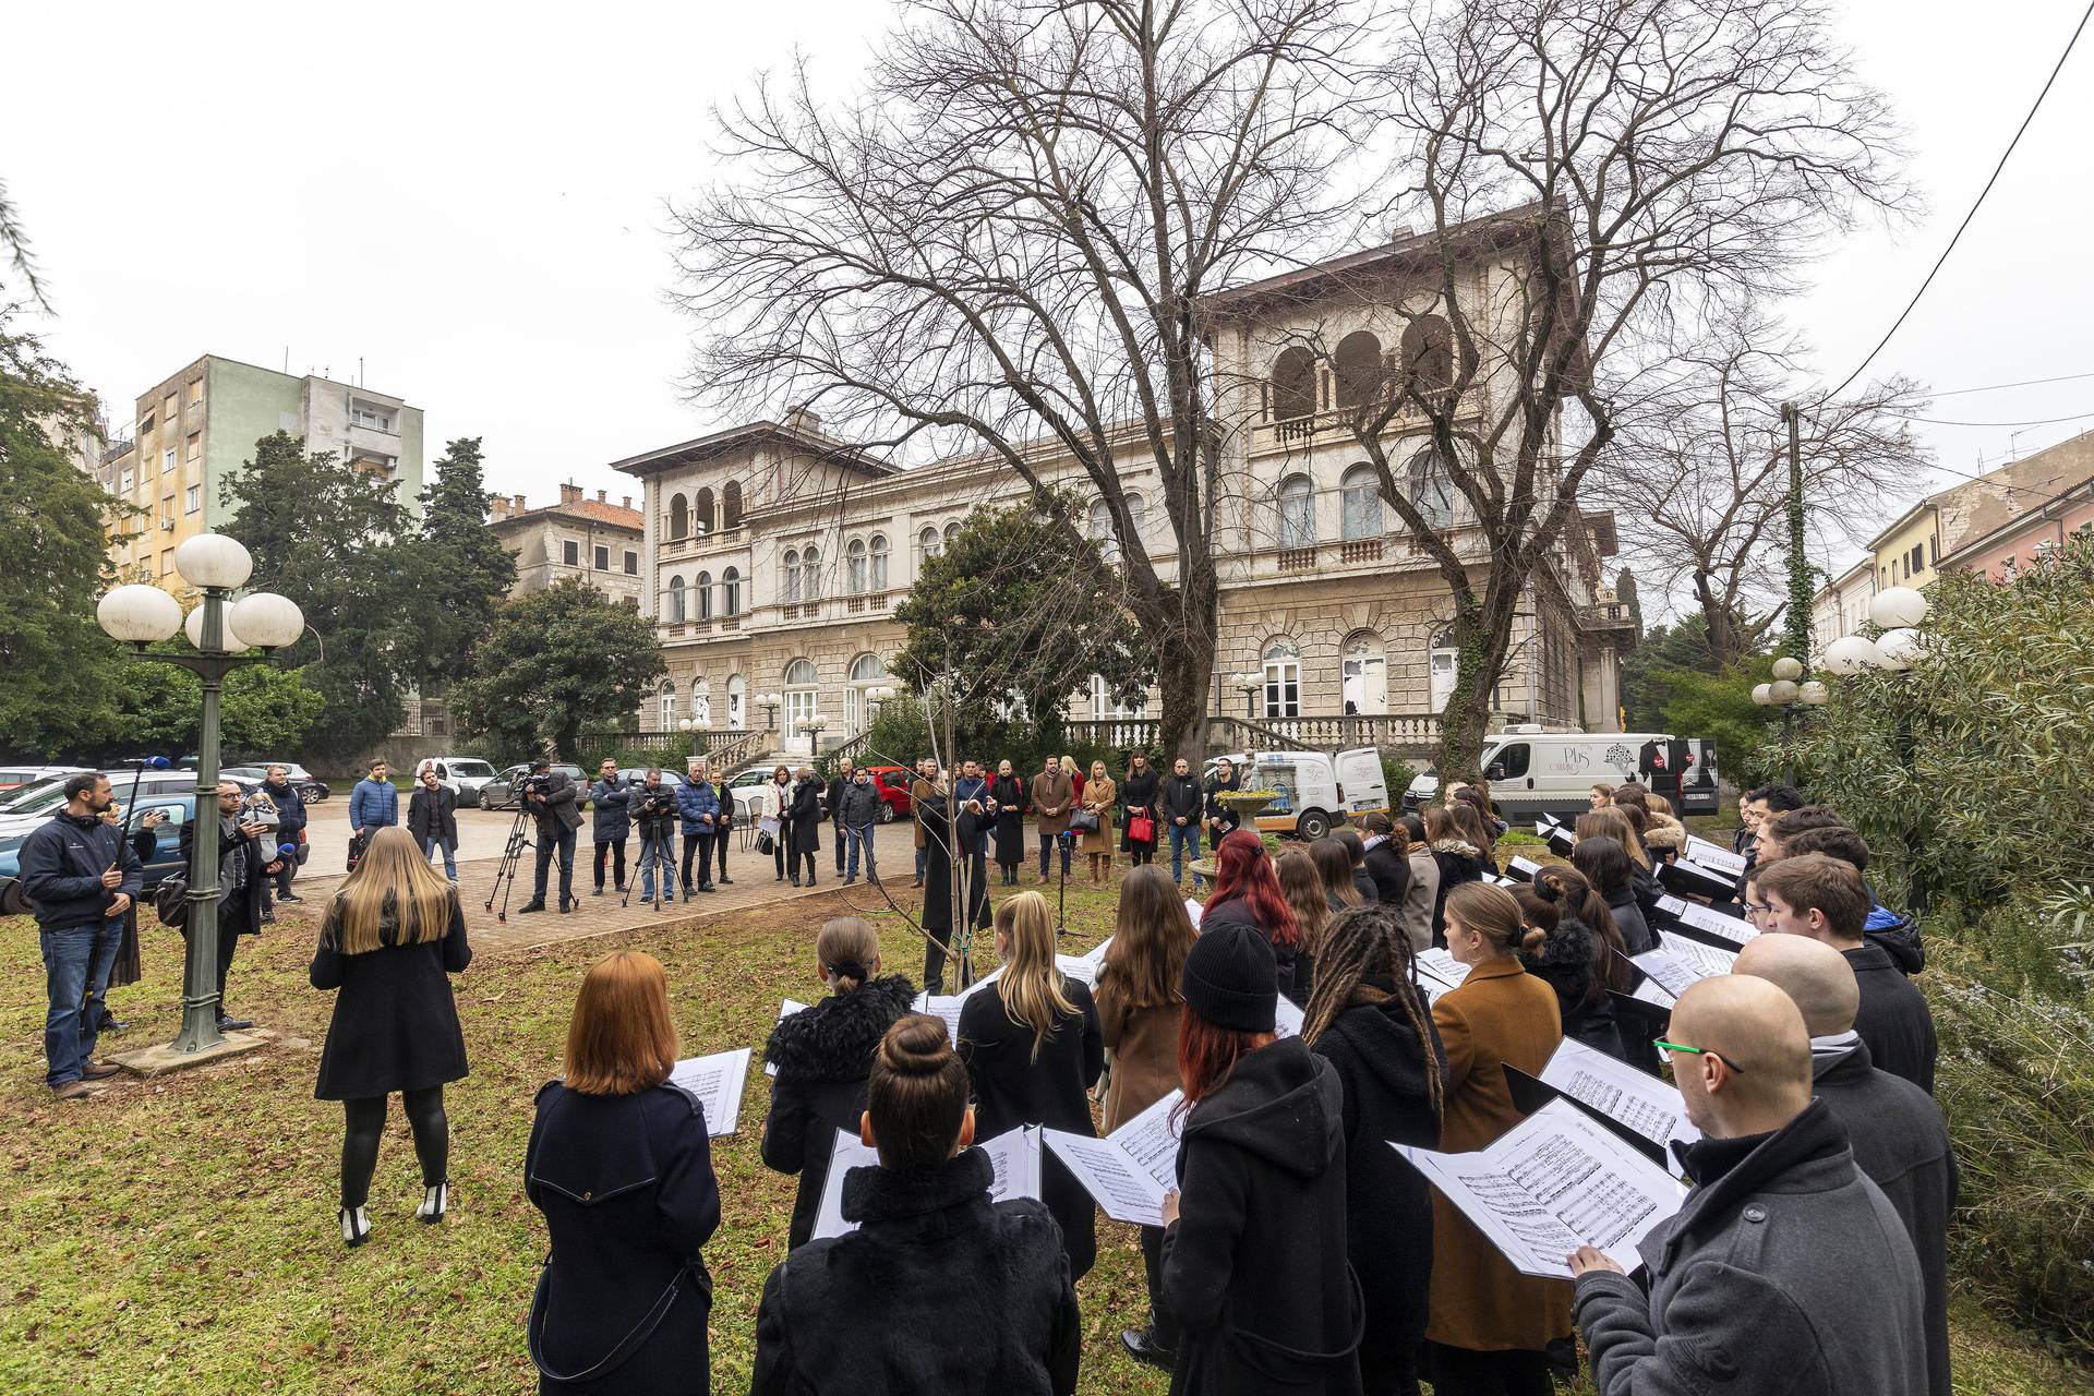
[[[821,881],[812,887],[794,887],[789,881],[775,881],[777,873],[773,860],[760,856],[754,848],[739,848],[739,835],[735,835],[737,846],[727,854],[727,873],[735,879],[733,885],[725,885],[710,896],[697,894],[693,900],[683,900],[683,892],[678,890],[676,900],[666,902],[660,910],[641,902],[637,881],[632,881],[632,896],[624,906],[620,906],[618,894],[609,887],[609,879],[605,879],[603,896],[591,894],[591,887],[595,885],[595,852],[588,843],[586,831],[576,843],[574,892],[580,906],[567,915],[561,915],[553,900],[559,894],[557,862],[549,869],[547,877],[551,894],[547,908],[532,915],[519,915],[517,908],[530,902],[532,873],[536,866],[532,862],[532,854],[526,850],[524,860],[517,866],[517,875],[509,885],[509,917],[503,921],[503,896],[500,892],[494,892],[494,875],[500,869],[500,858],[471,858],[459,862],[459,890],[465,900],[465,929],[473,942],[473,954],[513,954],[536,946],[588,940],[591,936],[609,936],[614,931],[628,931],[637,927],[704,925],[722,913],[771,906],[800,896],[815,896],[819,892],[838,892],[842,887],[842,879],[836,877],[836,852],[829,846],[829,829],[823,829],[823,848],[815,854],[815,871]],[[884,825],[875,837],[875,848],[879,852],[879,864],[888,875],[888,892],[898,904],[915,908],[921,902],[921,892],[909,885],[911,877],[915,877],[913,825],[907,820]],[[637,839],[626,843],[628,854],[634,850]],[[339,858],[329,866],[339,869]],[[628,864],[626,873],[630,879],[634,869]],[[327,898],[341,885],[341,873],[299,877],[295,887],[306,900],[304,908],[318,915]],[[865,887],[863,879],[859,887],[852,887],[852,892],[861,890],[871,904],[886,906],[877,892]],[[490,892],[494,892],[492,910],[488,908]]]

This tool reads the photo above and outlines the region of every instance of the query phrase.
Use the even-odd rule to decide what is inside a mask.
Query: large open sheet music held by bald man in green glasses
[[[1594,1245],[1621,1268],[1635,1243],[1679,1210],[1686,1189],[1568,1101],[1550,1101],[1476,1153],[1390,1143],[1522,1275],[1568,1279],[1566,1258]]]

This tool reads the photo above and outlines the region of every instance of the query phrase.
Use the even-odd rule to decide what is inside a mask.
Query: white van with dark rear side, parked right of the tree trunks
[[[1537,814],[1575,818],[1591,808],[1594,785],[1642,781],[1671,800],[1667,762],[1684,760],[1679,814],[1713,814],[1717,770],[1715,743],[1679,741],[1669,733],[1543,733],[1508,726],[1483,743],[1483,779],[1491,783],[1491,804],[1514,825]],[[1416,810],[1439,797],[1439,776],[1422,774],[1403,793],[1403,808]]]

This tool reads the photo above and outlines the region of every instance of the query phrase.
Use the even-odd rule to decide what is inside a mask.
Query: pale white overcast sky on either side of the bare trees
[[[486,437],[488,486],[632,492],[609,460],[729,423],[676,377],[664,201],[712,167],[706,111],[794,46],[848,82],[890,10],[794,4],[15,6],[0,178],[34,239],[48,347],[130,419],[199,354],[329,373]],[[1862,73],[1910,128],[1929,216],[1830,249],[1795,308],[1836,381],[1983,186],[2079,0],[1849,0]],[[534,10],[544,19],[534,19]],[[1870,373],[1943,396],[1954,481],[2094,427],[2094,38],[1920,310]],[[2021,427],[2025,421],[2048,425]],[[1991,425],[2002,423],[2002,425]],[[2012,425],[2004,425],[2012,423]]]

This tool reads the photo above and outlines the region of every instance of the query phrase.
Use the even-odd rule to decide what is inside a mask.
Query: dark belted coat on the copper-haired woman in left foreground
[[[645,1331],[616,1371],[593,1381],[540,1379],[540,1394],[712,1390],[712,1277],[699,1247],[720,1224],[720,1187],[697,1099],[666,1084],[639,1095],[582,1095],[547,1082],[524,1151],[524,1195],[553,1233],[553,1258],[532,1306],[534,1356],[576,1375],[624,1335]],[[672,1302],[645,1329],[664,1296]]]

